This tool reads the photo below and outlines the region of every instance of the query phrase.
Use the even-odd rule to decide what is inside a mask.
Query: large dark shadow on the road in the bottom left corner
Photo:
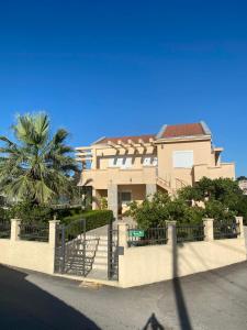
[[[26,276],[0,266],[1,329],[100,329],[79,311],[29,283]]]

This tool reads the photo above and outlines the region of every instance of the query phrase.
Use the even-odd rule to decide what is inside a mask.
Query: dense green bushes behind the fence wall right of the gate
[[[130,213],[143,229],[161,227],[166,220],[199,223],[202,218],[231,220],[234,216],[247,219],[247,196],[237,182],[228,178],[202,178],[193,187],[178,191],[177,198],[158,193],[142,205],[131,204]]]

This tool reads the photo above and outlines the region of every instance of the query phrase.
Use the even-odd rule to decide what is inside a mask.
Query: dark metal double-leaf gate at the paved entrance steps
[[[87,220],[77,220],[68,226],[57,226],[55,249],[55,273],[88,276],[92,271],[100,245],[100,234],[87,232]],[[108,279],[119,278],[119,231],[112,221],[106,229]]]

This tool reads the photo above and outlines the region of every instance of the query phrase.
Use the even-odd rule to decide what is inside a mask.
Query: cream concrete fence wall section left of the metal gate
[[[48,243],[20,240],[20,222],[12,219],[10,239],[0,239],[0,263],[53,274],[57,221],[49,221]]]

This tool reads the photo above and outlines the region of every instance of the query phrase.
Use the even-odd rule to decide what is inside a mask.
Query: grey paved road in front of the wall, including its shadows
[[[246,330],[247,262],[130,289],[0,266],[0,328]]]

